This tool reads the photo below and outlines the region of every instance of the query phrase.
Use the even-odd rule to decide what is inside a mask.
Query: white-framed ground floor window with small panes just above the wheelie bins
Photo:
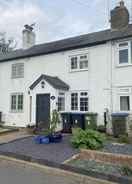
[[[88,93],[71,93],[71,110],[88,111]]]

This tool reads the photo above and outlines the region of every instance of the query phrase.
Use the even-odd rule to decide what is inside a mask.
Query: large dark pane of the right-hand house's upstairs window
[[[128,63],[128,49],[119,51],[119,63]]]

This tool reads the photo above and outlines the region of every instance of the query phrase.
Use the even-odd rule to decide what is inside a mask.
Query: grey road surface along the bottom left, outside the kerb
[[[112,184],[90,177],[56,172],[30,164],[0,159],[1,184]]]

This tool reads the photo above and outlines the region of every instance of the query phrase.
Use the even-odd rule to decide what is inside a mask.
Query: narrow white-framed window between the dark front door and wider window
[[[65,111],[65,93],[59,93],[58,111]]]

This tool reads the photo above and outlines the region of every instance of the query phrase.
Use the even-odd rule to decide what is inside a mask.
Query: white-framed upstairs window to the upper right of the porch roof
[[[88,54],[70,57],[70,70],[80,71],[88,69]]]

